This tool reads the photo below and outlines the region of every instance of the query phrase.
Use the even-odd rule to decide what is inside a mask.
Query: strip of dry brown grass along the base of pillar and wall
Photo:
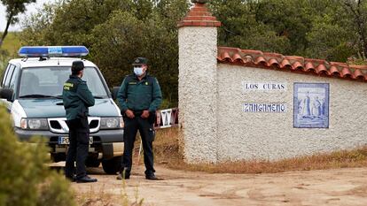
[[[154,154],[157,163],[167,163],[168,168],[209,173],[273,173],[309,171],[367,166],[367,146],[312,156],[299,156],[280,161],[238,161],[220,164],[186,164],[178,149],[178,128],[157,131]]]

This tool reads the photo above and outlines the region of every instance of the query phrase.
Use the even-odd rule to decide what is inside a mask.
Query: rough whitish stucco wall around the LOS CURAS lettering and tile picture
[[[366,83],[227,64],[218,64],[217,75],[219,161],[277,160],[367,143]],[[244,92],[242,81],[285,82],[287,89]],[[294,82],[330,84],[329,128],[293,128]],[[248,102],[286,103],[287,111],[242,111]]]

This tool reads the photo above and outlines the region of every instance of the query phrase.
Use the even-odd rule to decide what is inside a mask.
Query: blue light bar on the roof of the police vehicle
[[[89,53],[84,46],[27,46],[18,51],[20,57],[84,57]]]

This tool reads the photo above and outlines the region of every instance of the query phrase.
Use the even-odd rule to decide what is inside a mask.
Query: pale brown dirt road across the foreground
[[[367,168],[275,174],[208,174],[173,171],[156,166],[160,181],[144,179],[134,167],[126,180],[130,200],[144,205],[367,205]],[[101,169],[90,171],[98,183],[73,187],[85,198],[98,195],[121,205],[122,182]],[[138,189],[138,192],[136,190]]]

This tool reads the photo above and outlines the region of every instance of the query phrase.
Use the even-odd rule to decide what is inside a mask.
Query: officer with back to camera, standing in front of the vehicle
[[[65,175],[67,179],[76,180],[78,183],[96,182],[97,179],[91,179],[85,170],[85,160],[90,147],[88,108],[94,105],[94,97],[87,87],[87,82],[81,79],[84,71],[82,61],[74,61],[71,70],[72,75],[66,80],[62,93],[70,142],[66,154]]]

